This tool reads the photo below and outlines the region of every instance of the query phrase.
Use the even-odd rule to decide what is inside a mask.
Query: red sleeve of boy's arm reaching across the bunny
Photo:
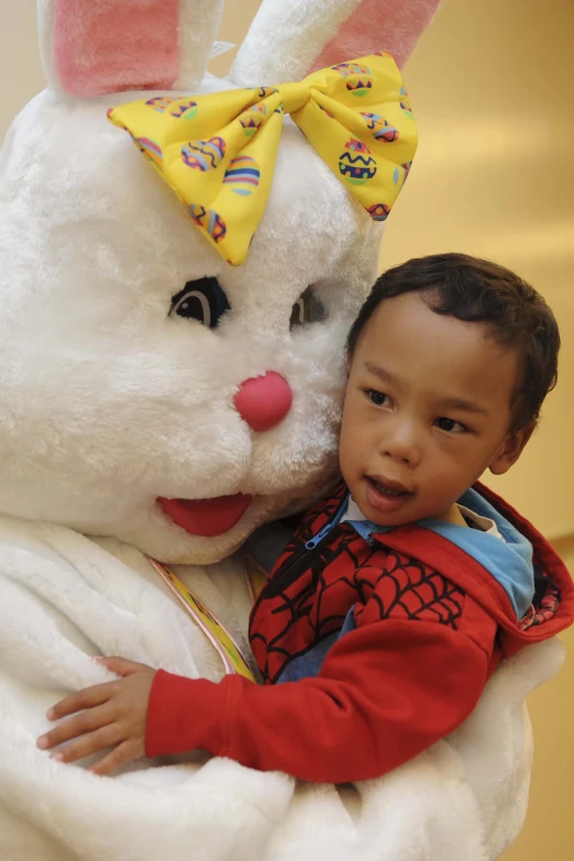
[[[146,754],[205,749],[262,771],[341,783],[377,777],[459,727],[493,669],[496,626],[468,597],[473,633],[385,618],[344,634],[314,678],[258,686],[159,671]],[[368,606],[368,603],[367,603]]]

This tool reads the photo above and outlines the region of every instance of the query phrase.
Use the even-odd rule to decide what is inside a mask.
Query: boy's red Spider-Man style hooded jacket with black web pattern
[[[494,514],[504,540],[440,521],[342,522],[341,485],[303,517],[254,606],[266,686],[159,671],[147,755],[202,748],[340,783],[380,776],[456,729],[500,658],[574,616],[550,544],[486,488],[461,503]]]

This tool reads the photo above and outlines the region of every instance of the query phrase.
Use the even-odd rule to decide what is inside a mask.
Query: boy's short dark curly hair
[[[490,261],[466,254],[433,254],[388,269],[375,283],[347,338],[352,355],[380,302],[407,292],[428,294],[439,314],[485,323],[496,341],[516,347],[522,373],[515,394],[511,430],[534,424],[558,380],[560,332],[551,309],[533,287]]]

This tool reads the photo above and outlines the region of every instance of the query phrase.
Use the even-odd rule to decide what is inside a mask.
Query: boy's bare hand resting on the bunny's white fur
[[[113,748],[89,769],[96,774],[110,774],[131,760],[145,757],[145,718],[155,670],[123,658],[101,658],[99,662],[122,677],[87,687],[57,703],[48,710],[48,720],[76,715],[77,711],[81,715],[65,720],[42,736],[37,747],[51,750],[77,738],[77,741],[52,754],[60,762],[75,762],[104,748]]]

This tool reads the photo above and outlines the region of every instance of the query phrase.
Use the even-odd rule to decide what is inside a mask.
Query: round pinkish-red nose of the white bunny
[[[233,398],[235,409],[255,431],[275,428],[287,416],[292,404],[291,387],[280,374],[268,371],[241,384]]]

